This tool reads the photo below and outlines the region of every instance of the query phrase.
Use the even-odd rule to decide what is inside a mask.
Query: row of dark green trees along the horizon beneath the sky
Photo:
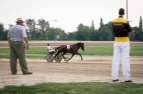
[[[9,25],[9,28],[13,25]],[[61,28],[54,28],[44,19],[36,22],[34,19],[25,20],[25,28],[29,40],[78,40],[78,41],[113,41],[112,23],[103,23],[100,19],[100,27],[95,28],[94,21],[90,26],[80,23],[77,30],[66,33]],[[142,17],[139,18],[139,25],[132,27],[132,33],[129,37],[131,41],[143,41],[143,23]],[[8,30],[4,29],[4,25],[0,23],[0,40],[7,39]]]

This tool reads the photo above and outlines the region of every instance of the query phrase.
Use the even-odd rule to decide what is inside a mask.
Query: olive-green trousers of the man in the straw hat
[[[27,62],[25,59],[24,43],[19,41],[10,41],[10,68],[11,73],[17,73],[17,59],[19,59],[22,73],[27,73]]]

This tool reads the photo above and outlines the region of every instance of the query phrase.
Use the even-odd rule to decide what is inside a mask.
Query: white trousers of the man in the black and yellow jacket
[[[122,61],[124,80],[130,80],[130,42],[114,42],[113,48],[112,80],[118,79],[120,60]]]

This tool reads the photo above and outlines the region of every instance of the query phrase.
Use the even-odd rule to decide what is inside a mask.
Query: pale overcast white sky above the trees
[[[119,8],[125,9],[126,0],[0,0],[0,23],[8,29],[18,17],[45,19],[51,27],[59,27],[65,32],[74,32],[80,23],[99,28],[100,18],[106,24],[118,17]],[[128,20],[131,26],[139,25],[143,17],[143,0],[128,0]],[[54,21],[56,20],[56,21]]]

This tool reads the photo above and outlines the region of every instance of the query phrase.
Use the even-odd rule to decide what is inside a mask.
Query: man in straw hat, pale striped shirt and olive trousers
[[[29,42],[22,18],[17,18],[16,25],[9,29],[7,39],[10,46],[10,68],[11,73],[17,74],[17,59],[19,59],[20,67],[24,75],[32,74],[28,71],[25,59],[25,48],[29,49]],[[24,41],[25,44],[24,45]]]

